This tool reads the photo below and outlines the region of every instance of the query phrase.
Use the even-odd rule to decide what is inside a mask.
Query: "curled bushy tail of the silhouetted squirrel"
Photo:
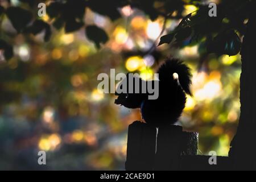
[[[182,61],[169,59],[158,69],[158,73],[160,81],[175,80],[174,76],[176,76],[176,74],[174,75],[174,73],[177,73],[181,88],[185,93],[192,96],[190,89],[192,77],[191,70]]]

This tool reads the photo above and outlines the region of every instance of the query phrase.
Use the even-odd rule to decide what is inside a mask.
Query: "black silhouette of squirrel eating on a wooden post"
[[[158,89],[159,96],[155,100],[149,100],[149,93],[117,93],[115,104],[123,105],[130,109],[141,109],[144,121],[155,127],[162,125],[172,125],[179,119],[186,102],[186,93],[191,93],[191,70],[182,61],[168,59],[162,64],[157,72],[159,75]],[[129,77],[126,76],[128,80]],[[129,81],[126,80],[126,83]],[[139,85],[148,84],[154,81],[144,81],[139,78]],[[122,86],[122,82],[120,84]],[[133,88],[135,88],[135,85]],[[127,90],[129,85],[127,84]],[[142,90],[141,88],[139,88]]]

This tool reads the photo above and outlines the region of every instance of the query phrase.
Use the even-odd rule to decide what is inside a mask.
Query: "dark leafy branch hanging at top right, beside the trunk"
[[[240,7],[240,11],[245,11],[248,8],[246,6],[248,5],[247,1],[236,1],[236,4]],[[230,1],[223,1],[217,6],[217,17],[210,17],[208,12],[208,6],[199,6],[199,10],[194,13],[195,15],[188,14],[174,31],[162,36],[159,46],[164,43],[171,43],[174,38],[176,38],[176,42],[189,39],[191,43],[194,40],[199,43],[200,40],[206,38],[208,53],[236,55],[240,52],[241,40],[232,30],[237,30],[240,35],[243,35],[245,30],[243,21],[246,16],[239,16],[240,13],[236,12],[235,9],[232,10]],[[227,22],[225,22],[225,18],[228,18]],[[213,40],[211,39],[212,36],[214,36]]]

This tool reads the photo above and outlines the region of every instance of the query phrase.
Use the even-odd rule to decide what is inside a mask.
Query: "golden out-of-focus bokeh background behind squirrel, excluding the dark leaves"
[[[185,5],[183,14],[195,10]],[[198,154],[228,155],[240,115],[240,56],[208,55],[197,43],[157,47],[160,35],[174,30],[180,19],[152,21],[130,6],[119,12],[122,17],[113,21],[86,9],[85,22],[109,36],[99,49],[84,28],[69,34],[52,28],[47,43],[43,32],[15,36],[9,61],[0,51],[0,169],[125,169],[127,127],[141,115],[115,105],[114,94],[97,90],[97,76],[111,68],[154,73],[169,56],[183,60],[193,73],[193,97],[187,98],[179,124],[199,132]],[[48,15],[42,19],[52,21]],[[15,33],[5,16],[1,24],[1,32]],[[46,166],[37,163],[40,150],[47,152]]]

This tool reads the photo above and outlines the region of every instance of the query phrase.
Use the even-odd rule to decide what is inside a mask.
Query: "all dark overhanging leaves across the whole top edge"
[[[37,8],[38,1],[31,0],[20,0],[20,2],[28,3],[31,7]],[[248,18],[248,12],[246,11],[250,6],[250,1],[222,1],[217,6],[217,17],[210,17],[208,15],[209,7],[201,5],[200,1],[180,1],[180,0],[113,0],[113,1],[101,1],[101,0],[77,0],[77,1],[53,1],[47,6],[47,14],[53,20],[52,25],[60,30],[64,27],[65,32],[74,32],[84,27],[84,15],[85,9],[88,7],[94,12],[108,16],[112,20],[121,18],[121,14],[118,11],[119,7],[130,5],[133,8],[138,8],[144,11],[151,20],[156,19],[158,16],[164,16],[165,18],[183,18],[175,28],[174,31],[161,37],[159,46],[164,43],[171,43],[173,40],[177,43],[190,40],[194,43],[200,42],[206,38],[210,46],[208,47],[209,53],[216,53],[217,55],[228,54],[234,55],[240,51],[240,41],[237,36],[229,35],[226,42],[226,47],[221,49],[213,48],[218,38],[223,36],[223,32],[229,32],[230,30],[237,30],[240,35],[244,34],[245,24],[243,21]],[[182,17],[184,5],[196,5],[199,10],[196,13],[188,14]],[[4,9],[0,6],[0,15],[4,13]],[[172,13],[176,13],[172,16]],[[35,14],[35,13],[34,13]],[[47,22],[42,20],[35,20],[32,26],[28,26],[31,23],[32,17],[31,11],[25,10],[22,7],[10,6],[6,9],[6,15],[10,19],[14,28],[18,33],[23,32],[31,34],[38,34],[41,31],[46,31],[44,40],[48,41],[51,36],[51,26]],[[227,20],[227,22],[224,21]],[[97,28],[94,27],[96,30]],[[92,34],[89,32],[89,39],[96,42],[96,46],[99,47],[99,43],[105,43],[108,39],[106,38],[105,32],[96,30],[100,33]],[[227,34],[227,33],[225,33]],[[86,34],[88,35],[88,34]],[[210,38],[215,37],[214,40]]]

